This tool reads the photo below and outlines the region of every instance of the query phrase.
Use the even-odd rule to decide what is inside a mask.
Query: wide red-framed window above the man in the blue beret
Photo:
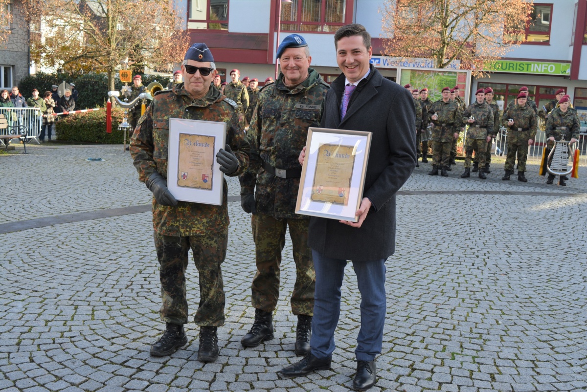
[[[345,24],[349,0],[292,0],[281,5],[282,31],[335,32]]]

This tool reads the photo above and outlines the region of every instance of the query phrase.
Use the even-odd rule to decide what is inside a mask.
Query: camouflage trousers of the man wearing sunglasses
[[[154,232],[153,238],[159,260],[163,300],[159,311],[161,320],[178,325],[188,322],[185,270],[191,248],[200,280],[200,304],[194,322],[199,326],[224,325],[225,297],[220,265],[226,257],[228,228],[217,233],[187,237]]]

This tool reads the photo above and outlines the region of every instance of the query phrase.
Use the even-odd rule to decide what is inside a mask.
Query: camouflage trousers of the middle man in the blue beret
[[[264,312],[273,312],[279,299],[279,275],[281,252],[285,246],[285,230],[289,226],[292,240],[296,279],[291,308],[294,315],[313,316],[316,273],[312,251],[308,246],[310,219],[276,219],[265,214],[251,217],[255,263],[257,273],[253,278],[252,305]]]

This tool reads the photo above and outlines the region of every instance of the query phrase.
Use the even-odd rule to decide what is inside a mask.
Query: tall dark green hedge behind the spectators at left
[[[167,84],[173,78],[160,77],[153,75],[142,75],[143,85],[148,86],[149,83],[157,82],[167,87]],[[90,72],[79,77],[71,77],[66,73],[48,74],[39,72],[35,75],[26,76],[18,83],[18,88],[25,98],[32,96],[32,89],[39,90],[39,95],[43,96],[46,91],[51,91],[52,85],[60,85],[61,82],[74,83],[79,93],[76,100],[76,109],[92,109],[94,107],[102,107],[106,103],[108,96],[108,77],[105,73]],[[114,87],[116,90],[122,89],[123,83],[120,79],[114,80]],[[123,97],[124,98],[124,97]]]

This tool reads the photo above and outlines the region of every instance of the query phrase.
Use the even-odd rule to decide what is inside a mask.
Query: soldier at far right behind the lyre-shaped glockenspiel
[[[564,138],[566,141],[575,143],[579,139],[579,131],[581,131],[581,125],[579,124],[578,117],[569,110],[569,104],[571,102],[567,97],[561,97],[556,109],[551,111],[551,115],[546,120],[546,138],[548,138],[548,148],[554,147],[555,140],[561,140]],[[548,161],[550,165],[551,160]],[[554,174],[548,173],[548,180],[546,184],[552,184],[554,182]],[[559,176],[559,185],[566,185],[566,176]]]

